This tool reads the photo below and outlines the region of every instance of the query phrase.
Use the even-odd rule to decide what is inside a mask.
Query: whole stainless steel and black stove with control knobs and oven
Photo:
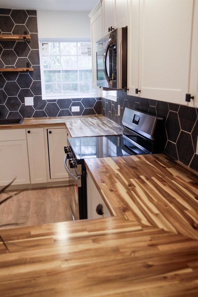
[[[123,135],[68,138],[64,163],[67,173],[75,181],[76,197],[71,205],[74,219],[87,218],[84,159],[161,153],[164,138],[162,120],[125,108],[122,120]]]

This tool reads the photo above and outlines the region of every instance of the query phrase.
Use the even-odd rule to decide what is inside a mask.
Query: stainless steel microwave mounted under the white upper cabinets
[[[117,28],[96,42],[97,86],[127,88],[127,27]]]

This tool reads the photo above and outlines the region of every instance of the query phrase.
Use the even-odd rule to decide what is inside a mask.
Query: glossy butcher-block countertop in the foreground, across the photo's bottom
[[[198,240],[121,217],[2,229],[1,297],[189,297]]]

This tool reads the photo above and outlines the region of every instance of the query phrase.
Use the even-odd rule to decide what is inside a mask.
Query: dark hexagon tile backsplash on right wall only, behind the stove
[[[198,108],[128,96],[124,91],[117,91],[117,102],[102,98],[102,106],[102,114],[119,125],[122,125],[125,107],[162,117],[164,152],[198,171]]]

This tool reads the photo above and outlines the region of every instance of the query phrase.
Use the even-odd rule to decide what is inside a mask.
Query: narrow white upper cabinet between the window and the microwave
[[[94,89],[97,87],[97,63],[96,63],[96,42],[102,38],[102,7],[91,16],[91,41],[92,41],[92,83]]]

